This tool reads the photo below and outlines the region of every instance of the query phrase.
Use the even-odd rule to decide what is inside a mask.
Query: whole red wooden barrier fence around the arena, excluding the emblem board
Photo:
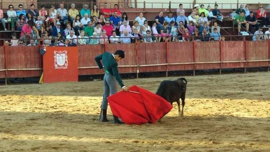
[[[79,75],[102,74],[94,57],[125,50],[120,73],[270,66],[270,40],[79,45]],[[269,68],[268,68],[269,69]],[[0,47],[0,78],[40,76],[38,46]]]

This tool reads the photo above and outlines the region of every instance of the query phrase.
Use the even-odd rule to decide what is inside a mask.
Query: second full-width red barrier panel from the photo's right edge
[[[244,45],[245,45],[244,41],[221,42],[222,68],[244,68],[245,67]]]

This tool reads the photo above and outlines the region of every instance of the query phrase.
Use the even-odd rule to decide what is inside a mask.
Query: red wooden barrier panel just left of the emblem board
[[[39,47],[6,47],[6,68],[8,78],[41,76]]]

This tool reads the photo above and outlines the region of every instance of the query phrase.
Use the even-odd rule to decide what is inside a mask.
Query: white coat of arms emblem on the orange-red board
[[[54,68],[67,69],[67,51],[54,51]]]

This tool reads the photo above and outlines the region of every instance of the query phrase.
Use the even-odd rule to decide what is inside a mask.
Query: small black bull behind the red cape
[[[176,102],[178,105],[179,115],[181,113],[181,116],[183,116],[186,89],[187,89],[187,80],[185,78],[179,78],[177,80],[164,80],[160,83],[156,95],[161,96],[171,104],[173,102]],[[180,110],[180,98],[182,100],[182,111]]]

